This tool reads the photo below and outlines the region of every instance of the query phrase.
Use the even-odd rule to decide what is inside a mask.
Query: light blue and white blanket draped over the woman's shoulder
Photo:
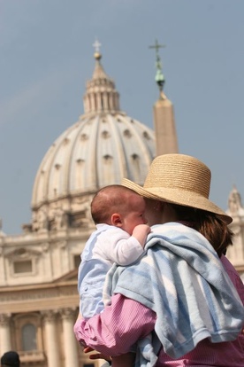
[[[156,335],[139,341],[139,365],[156,363],[159,340],[165,353],[179,358],[205,338],[236,339],[244,308],[206,238],[183,224],[167,223],[152,227],[145,249],[132,266],[113,266],[104,288],[106,303],[112,293],[122,293],[156,312]]]

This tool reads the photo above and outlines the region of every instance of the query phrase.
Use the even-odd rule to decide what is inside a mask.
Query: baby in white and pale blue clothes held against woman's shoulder
[[[114,262],[127,266],[144,254],[150,227],[146,224],[144,199],[121,186],[106,186],[95,194],[91,215],[96,230],[81,254],[78,273],[80,314],[88,319],[103,312],[103,285]],[[133,365],[133,354],[112,359],[119,367]]]

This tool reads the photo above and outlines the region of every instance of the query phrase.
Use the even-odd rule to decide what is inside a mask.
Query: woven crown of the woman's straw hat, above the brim
[[[187,159],[186,159],[187,158]],[[165,154],[153,160],[144,189],[179,189],[210,196],[210,169],[200,160],[181,154]]]

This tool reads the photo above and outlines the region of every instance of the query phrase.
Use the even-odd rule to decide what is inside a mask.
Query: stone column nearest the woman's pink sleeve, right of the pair
[[[78,342],[74,337],[74,309],[64,308],[61,310],[64,331],[65,367],[79,367]]]

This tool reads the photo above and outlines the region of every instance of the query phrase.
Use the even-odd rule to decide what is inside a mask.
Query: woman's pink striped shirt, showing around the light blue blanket
[[[244,304],[244,285],[225,256],[221,261],[233,281]],[[74,333],[82,345],[88,345],[104,355],[120,355],[128,352],[140,338],[154,329],[156,314],[140,303],[126,299],[120,294],[112,297],[110,307],[88,321],[79,320],[74,325]],[[210,343],[202,340],[193,351],[173,360],[161,349],[156,367],[243,367],[244,330],[237,340],[225,343]]]

